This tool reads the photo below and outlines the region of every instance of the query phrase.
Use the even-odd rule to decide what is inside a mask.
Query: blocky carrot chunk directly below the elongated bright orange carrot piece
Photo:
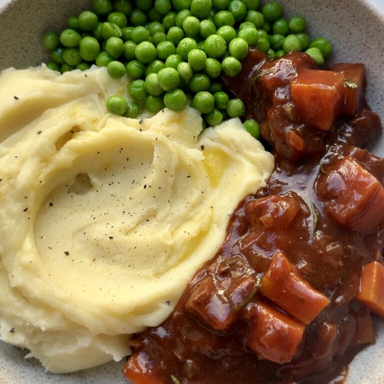
[[[261,358],[280,364],[293,358],[305,325],[265,303],[251,303],[247,345]]]

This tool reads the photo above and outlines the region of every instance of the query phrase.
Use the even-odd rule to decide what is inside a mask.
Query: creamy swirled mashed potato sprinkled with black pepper
[[[106,113],[105,68],[0,76],[1,339],[51,372],[129,354],[223,242],[273,157],[238,119]]]

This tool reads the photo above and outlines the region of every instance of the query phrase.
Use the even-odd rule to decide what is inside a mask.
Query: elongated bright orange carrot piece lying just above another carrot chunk
[[[309,324],[329,304],[327,297],[299,276],[282,252],[274,254],[259,289],[304,324]]]

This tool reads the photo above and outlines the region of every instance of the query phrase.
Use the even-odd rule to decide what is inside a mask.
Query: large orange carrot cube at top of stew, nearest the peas
[[[343,87],[342,73],[302,69],[290,85],[290,95],[305,124],[329,130],[341,109]]]

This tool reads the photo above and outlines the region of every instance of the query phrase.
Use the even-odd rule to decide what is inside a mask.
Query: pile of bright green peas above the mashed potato
[[[136,118],[143,108],[180,111],[190,105],[205,125],[241,117],[244,103],[223,89],[220,76],[235,77],[250,47],[270,59],[305,51],[322,65],[332,51],[322,37],[310,40],[301,16],[283,17],[276,1],[260,0],[92,0],[92,10],[67,20],[60,34],[42,37],[46,65],[61,73],[106,66],[110,77],[128,75],[128,99],[110,96],[109,112]],[[258,123],[245,128],[259,137]]]

